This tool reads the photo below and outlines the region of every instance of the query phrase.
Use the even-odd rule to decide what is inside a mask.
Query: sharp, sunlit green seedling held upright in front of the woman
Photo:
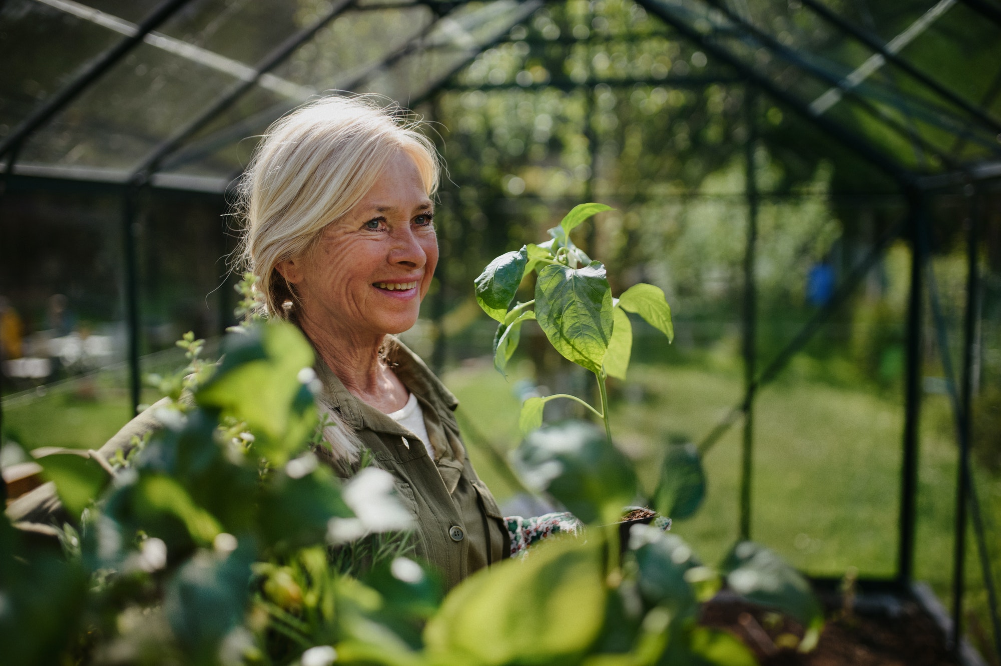
[[[674,339],[671,306],[659,287],[640,283],[614,298],[605,265],[591,259],[571,240],[574,229],[607,210],[613,209],[600,203],[575,206],[549,230],[550,240],[502,254],[474,281],[476,302],[498,323],[493,337],[493,364],[498,371],[504,372],[518,348],[522,325],[534,319],[558,352],[594,373],[598,380],[600,409],[565,393],[526,400],[520,418],[525,434],[543,424],[547,402],[566,398],[602,419],[611,442],[606,379],[626,378],[633,347],[633,328],[626,313],[640,315],[669,341]],[[519,286],[532,273],[537,274],[536,297],[512,307]]]

